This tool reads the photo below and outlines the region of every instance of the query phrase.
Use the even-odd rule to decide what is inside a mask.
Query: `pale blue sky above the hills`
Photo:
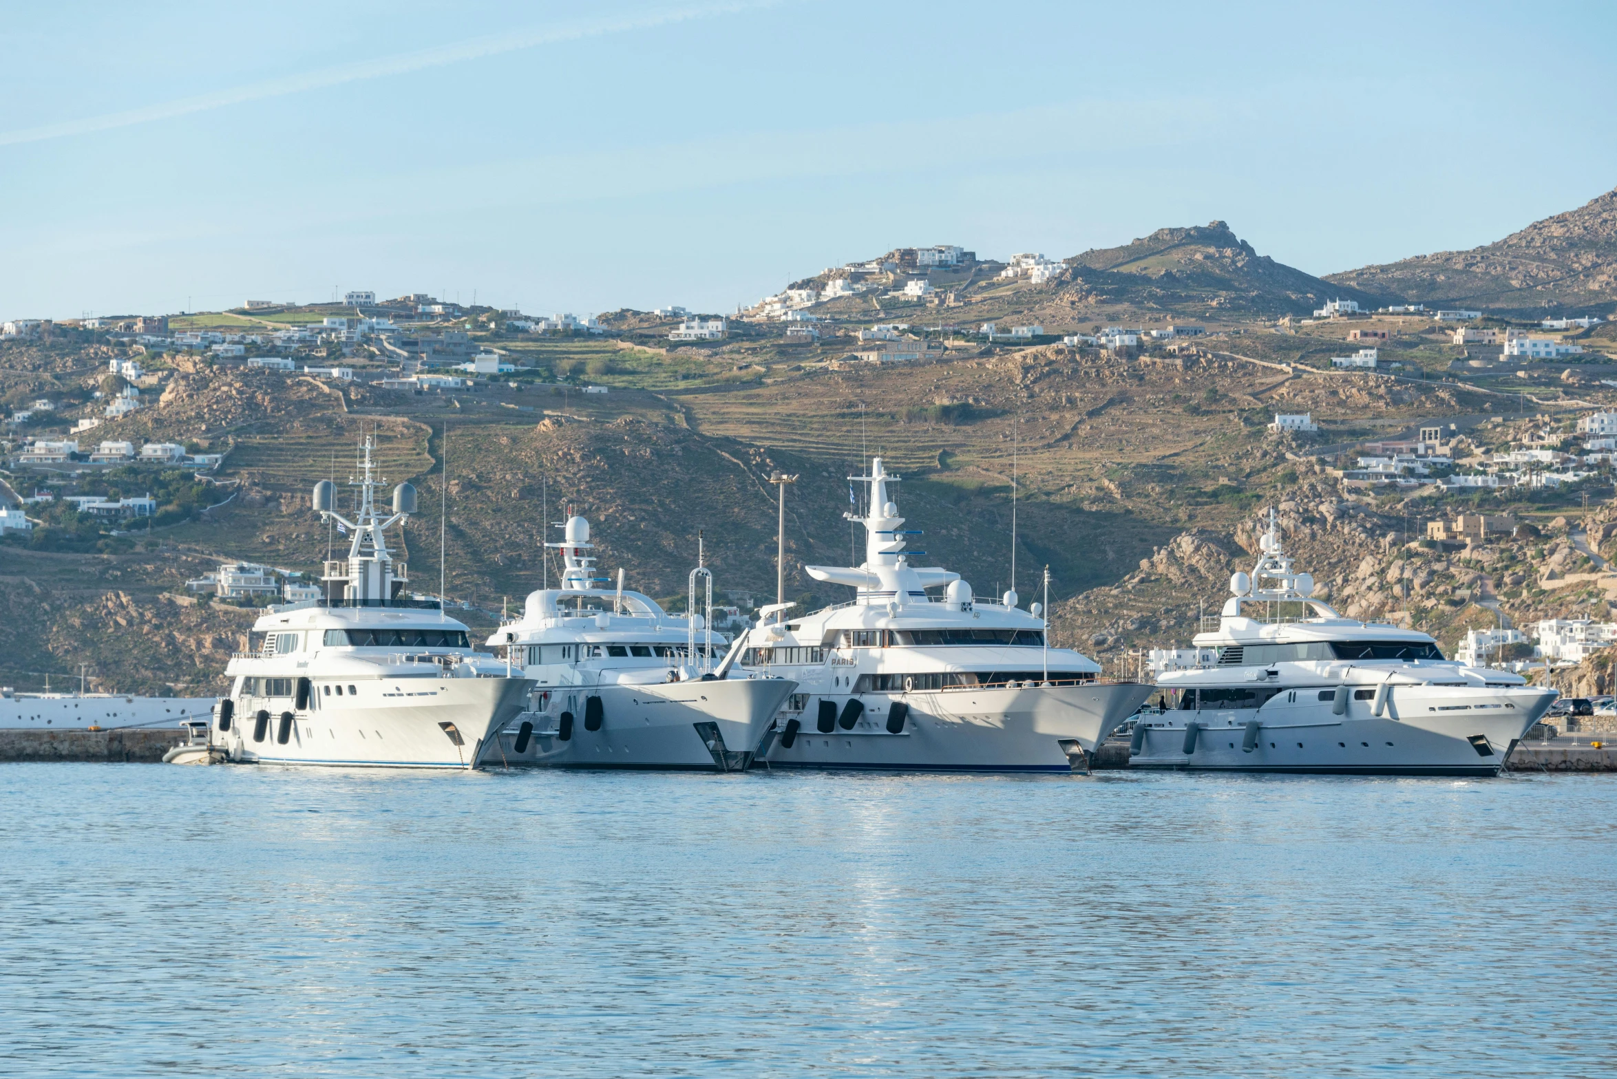
[[[1612,5],[10,5],[0,315],[734,310],[1231,223],[1311,273],[1617,186]]]

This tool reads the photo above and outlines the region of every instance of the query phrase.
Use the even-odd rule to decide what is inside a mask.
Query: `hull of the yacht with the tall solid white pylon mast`
[[[1151,693],[1145,683],[959,688],[810,698],[800,716],[776,722],[771,767],[915,772],[1070,772]],[[863,704],[852,727],[818,728],[818,701],[838,716]],[[901,728],[888,728],[894,704],[907,704]],[[797,720],[796,737],[786,728]],[[791,745],[787,745],[791,741]]]

